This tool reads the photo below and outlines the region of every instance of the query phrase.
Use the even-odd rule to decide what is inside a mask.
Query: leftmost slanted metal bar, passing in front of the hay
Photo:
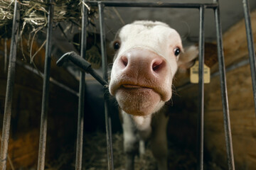
[[[9,145],[9,132],[11,126],[11,106],[12,98],[14,92],[14,79],[15,79],[15,66],[16,66],[16,52],[18,44],[18,33],[19,33],[19,21],[20,21],[20,5],[18,1],[15,1],[14,4],[14,18],[13,26],[11,33],[11,49],[9,57],[9,69],[7,76],[7,85],[6,85],[6,98],[4,106],[4,121],[2,129],[2,138],[1,138],[1,152],[0,152],[0,169],[6,169],[6,161],[8,155],[8,145]]]

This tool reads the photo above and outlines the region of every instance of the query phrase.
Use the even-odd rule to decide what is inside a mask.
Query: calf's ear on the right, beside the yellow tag
[[[186,47],[178,59],[178,69],[181,72],[186,71],[193,66],[196,57],[198,57],[198,47],[196,45]]]

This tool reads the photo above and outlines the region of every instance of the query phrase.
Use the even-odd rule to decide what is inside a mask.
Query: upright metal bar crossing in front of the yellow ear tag
[[[204,116],[204,13],[205,6],[200,7],[200,33],[199,33],[199,109],[198,109],[198,169],[203,170],[203,116]]]

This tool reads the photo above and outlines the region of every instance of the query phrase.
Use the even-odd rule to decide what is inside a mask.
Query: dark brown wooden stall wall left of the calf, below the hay
[[[10,41],[8,41],[8,53]],[[24,50],[26,40],[23,41]],[[33,42],[33,52],[40,45]],[[4,102],[6,93],[6,77],[4,72],[4,40],[0,41],[0,130],[4,117]],[[38,159],[38,142],[41,120],[41,103],[43,93],[43,79],[37,74],[25,69],[25,65],[32,66],[28,54],[24,62],[21,49],[18,49],[16,64],[16,79],[14,84],[14,97],[11,115],[11,132],[9,142],[9,157],[15,169],[36,169]],[[38,70],[43,72],[45,50],[38,52],[34,58]],[[78,91],[78,80],[69,72],[55,65],[53,57],[50,77],[59,81],[70,89]],[[36,70],[36,69],[34,69]],[[75,146],[76,121],[78,111],[78,96],[70,94],[65,89],[50,83],[48,136],[46,147],[46,163],[60,157],[65,152],[63,148]],[[61,121],[60,121],[61,119]],[[46,164],[47,167],[47,164]],[[11,166],[7,164],[7,169]]]

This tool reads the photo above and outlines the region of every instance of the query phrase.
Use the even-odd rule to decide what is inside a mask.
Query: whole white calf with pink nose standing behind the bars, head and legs
[[[126,169],[134,169],[134,156],[145,140],[158,169],[167,169],[166,101],[179,66],[188,67],[198,55],[195,46],[184,52],[180,35],[165,23],[135,21],[117,33],[110,79],[110,94],[117,98],[122,116]]]

